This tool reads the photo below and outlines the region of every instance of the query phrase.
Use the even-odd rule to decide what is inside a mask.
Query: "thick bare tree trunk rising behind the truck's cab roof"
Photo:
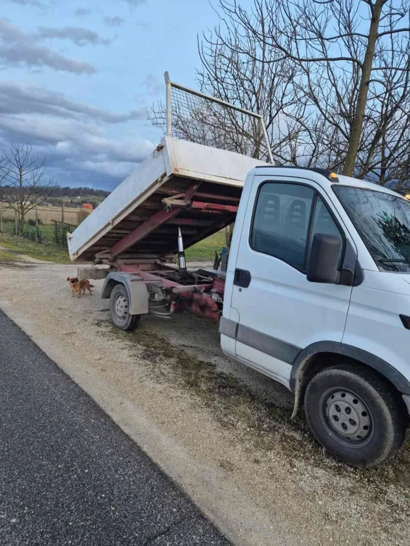
[[[373,6],[373,14],[367,39],[366,55],[360,79],[358,102],[354,112],[352,128],[350,129],[349,148],[343,166],[343,174],[345,176],[353,176],[356,157],[358,155],[363,120],[365,117],[368,86],[370,84],[370,76],[373,67],[374,49],[376,48],[380,14],[382,13],[383,3],[384,0],[376,0],[376,3]]]

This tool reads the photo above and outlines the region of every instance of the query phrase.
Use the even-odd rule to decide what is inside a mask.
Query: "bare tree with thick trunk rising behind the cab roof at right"
[[[385,183],[409,141],[409,0],[254,0],[249,11],[220,0],[219,7],[232,29],[275,52],[264,59],[241,38],[238,54],[290,63],[316,157]],[[400,142],[392,146],[391,135]]]

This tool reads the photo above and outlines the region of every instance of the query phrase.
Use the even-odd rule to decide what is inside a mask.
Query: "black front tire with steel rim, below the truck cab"
[[[393,457],[406,420],[391,385],[360,364],[320,371],[308,384],[304,411],[317,441],[337,460],[367,468]]]

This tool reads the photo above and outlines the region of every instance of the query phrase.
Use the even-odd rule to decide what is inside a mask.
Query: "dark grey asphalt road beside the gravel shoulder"
[[[229,546],[1,311],[0,544]]]

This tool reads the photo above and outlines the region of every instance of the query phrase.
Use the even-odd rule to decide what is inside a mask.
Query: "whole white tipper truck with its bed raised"
[[[192,127],[174,92],[212,105],[202,123],[215,111],[249,116],[271,159],[261,116],[167,79],[165,138],[68,236],[71,258],[110,266],[102,297],[116,327],[183,310],[219,321],[224,353],[290,389],[294,415],[304,406],[329,453],[381,464],[400,449],[410,412],[410,201],[218,149],[233,123],[222,139],[196,123],[203,143],[183,140]],[[233,221],[226,274],[187,270],[184,244]]]

